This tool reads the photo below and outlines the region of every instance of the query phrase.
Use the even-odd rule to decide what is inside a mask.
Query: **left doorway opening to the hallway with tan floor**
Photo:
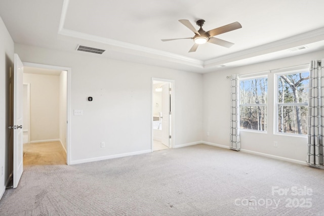
[[[24,96],[27,97],[24,100],[24,163],[69,164],[71,69],[23,64]]]

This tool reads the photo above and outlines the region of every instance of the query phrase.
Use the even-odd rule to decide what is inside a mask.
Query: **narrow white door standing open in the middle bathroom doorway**
[[[170,83],[162,85],[162,143],[170,147]]]

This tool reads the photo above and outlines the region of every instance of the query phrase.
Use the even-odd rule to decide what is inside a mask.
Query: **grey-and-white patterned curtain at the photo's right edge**
[[[308,102],[308,156],[310,166],[323,167],[324,59],[311,61]]]

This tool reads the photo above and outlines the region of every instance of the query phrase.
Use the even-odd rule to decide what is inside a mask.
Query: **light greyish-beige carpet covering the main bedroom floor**
[[[0,215],[324,215],[324,170],[208,145],[26,166]]]

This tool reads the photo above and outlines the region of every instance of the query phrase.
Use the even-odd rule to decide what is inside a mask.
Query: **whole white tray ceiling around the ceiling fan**
[[[106,50],[103,57],[205,73],[324,49],[322,0],[0,0],[0,16],[18,44],[75,51],[77,45]],[[178,22],[206,31],[239,22],[216,37],[231,48],[200,45]],[[289,49],[307,46],[290,52]]]

